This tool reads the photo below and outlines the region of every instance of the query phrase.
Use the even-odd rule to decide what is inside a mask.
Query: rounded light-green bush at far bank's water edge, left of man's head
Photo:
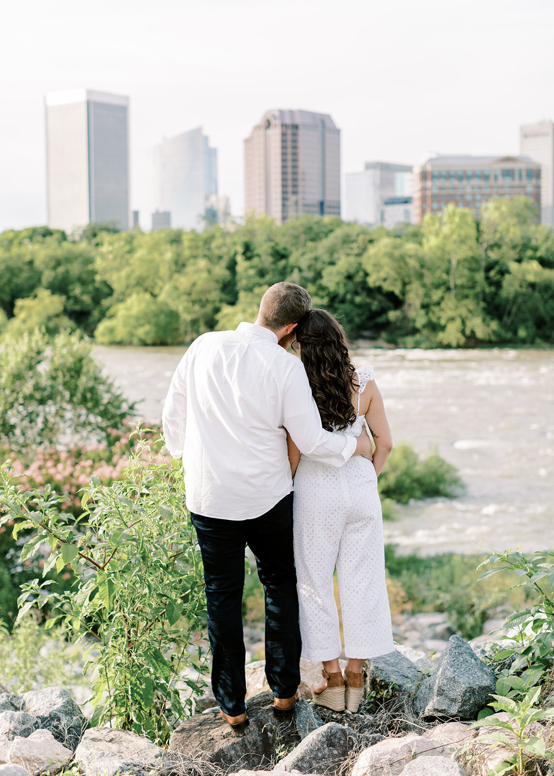
[[[172,345],[181,341],[181,318],[146,291],[117,304],[95,331],[101,345]]]

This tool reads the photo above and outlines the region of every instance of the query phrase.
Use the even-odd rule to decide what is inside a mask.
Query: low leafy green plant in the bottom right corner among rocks
[[[554,708],[536,708],[535,704],[541,694],[540,687],[530,688],[525,698],[514,701],[503,695],[493,695],[495,701],[490,703],[496,712],[506,712],[507,720],[496,716],[479,719],[473,722],[470,728],[482,728],[494,726],[502,730],[494,733],[486,733],[474,740],[474,743],[491,743],[493,746],[502,744],[511,752],[501,763],[495,765],[489,772],[494,776],[502,776],[508,771],[513,771],[518,776],[523,776],[528,763],[531,760],[554,760],[554,750],[547,748],[547,743],[542,736],[528,736],[526,729],[532,722],[543,719],[554,719]],[[504,730],[509,733],[504,733]]]

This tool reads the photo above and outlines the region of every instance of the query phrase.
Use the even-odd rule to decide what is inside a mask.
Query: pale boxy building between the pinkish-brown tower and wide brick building
[[[412,189],[413,175],[410,165],[366,161],[362,172],[349,172],[346,175],[345,221],[356,221],[369,227],[376,227],[378,223],[385,223],[385,220],[389,224],[391,214],[385,215],[385,201],[393,197],[407,199],[411,196]],[[410,206],[411,203],[407,204]]]

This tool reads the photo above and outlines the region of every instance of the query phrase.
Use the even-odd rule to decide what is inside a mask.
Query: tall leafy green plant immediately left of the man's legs
[[[182,468],[140,440],[126,479],[106,487],[92,476],[81,514],[60,511],[61,497],[47,485],[23,491],[0,467],[0,523],[13,533],[32,528],[22,559],[50,546],[43,574],[71,568],[75,583],[58,591],[50,580],[23,585],[19,618],[49,608],[46,627],[63,623],[88,646],[92,669],[92,724],[165,742],[175,722],[192,711],[182,683],[193,692],[206,670],[203,572],[196,536],[185,508]],[[196,671],[184,677],[185,668]]]

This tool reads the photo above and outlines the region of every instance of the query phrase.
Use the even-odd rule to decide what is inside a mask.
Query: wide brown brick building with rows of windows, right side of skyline
[[[487,199],[525,196],[540,211],[541,167],[528,156],[436,156],[414,167],[414,222],[448,203],[476,216]]]

